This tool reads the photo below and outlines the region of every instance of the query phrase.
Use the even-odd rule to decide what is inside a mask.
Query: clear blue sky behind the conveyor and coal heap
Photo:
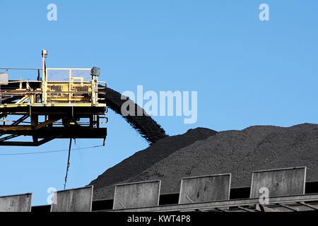
[[[57,5],[57,21],[47,5]],[[269,5],[269,21],[259,5]],[[155,117],[170,135],[206,127],[317,123],[318,1],[0,1],[0,68],[102,69],[101,80],[123,92],[143,89],[198,92],[198,120]],[[35,73],[10,72],[11,79]],[[148,146],[126,122],[107,114],[105,148],[71,154],[67,188],[85,186],[106,169]],[[122,142],[122,139],[125,142]],[[1,147],[1,153],[64,150],[69,141],[39,148]],[[99,145],[77,141],[74,148]],[[0,155],[0,196],[63,189],[67,152]]]

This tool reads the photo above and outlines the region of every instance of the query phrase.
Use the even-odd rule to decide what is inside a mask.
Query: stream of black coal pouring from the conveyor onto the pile
[[[146,138],[148,143],[152,144],[158,141],[161,138],[167,137],[165,130],[155,122],[146,112],[132,100],[122,100],[122,94],[118,93],[111,88],[105,89],[106,95],[100,95],[101,98],[105,100],[100,100],[100,102],[106,102],[107,107],[112,109],[117,114],[122,115],[122,105],[124,102],[129,101],[135,107],[134,116],[128,115],[123,116],[124,119],[134,128],[138,133],[141,134],[143,138]],[[142,112],[142,116],[138,116],[138,112]]]

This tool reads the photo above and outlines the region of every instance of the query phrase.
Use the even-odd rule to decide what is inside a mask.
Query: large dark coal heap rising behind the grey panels
[[[252,171],[283,167],[307,166],[307,181],[318,180],[317,124],[252,126],[219,133],[194,129],[170,138],[177,142],[163,138],[91,182],[94,198],[112,198],[115,184],[153,179],[161,180],[161,194],[175,193],[182,177],[228,172],[232,173],[232,187],[250,186]]]

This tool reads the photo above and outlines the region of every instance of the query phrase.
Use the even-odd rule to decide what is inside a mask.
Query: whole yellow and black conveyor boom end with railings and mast
[[[107,129],[100,124],[107,122],[107,106],[98,101],[106,83],[98,81],[100,69],[46,68],[45,58],[43,49],[37,81],[11,81],[0,73],[0,145],[38,146],[55,138],[102,138],[105,145]],[[32,141],[11,141],[19,136]]]

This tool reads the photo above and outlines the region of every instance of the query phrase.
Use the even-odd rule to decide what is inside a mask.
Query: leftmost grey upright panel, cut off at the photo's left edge
[[[0,197],[0,212],[30,212],[32,194]]]

